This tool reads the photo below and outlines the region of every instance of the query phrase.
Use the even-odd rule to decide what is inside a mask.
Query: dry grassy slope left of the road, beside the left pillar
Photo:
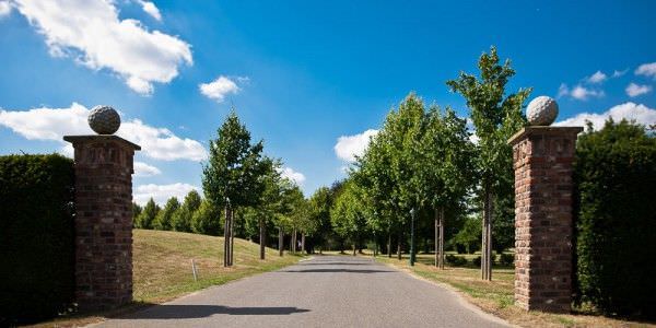
[[[235,238],[234,266],[223,267],[223,237],[168,231],[133,230],[134,304],[117,311],[62,317],[37,327],[72,327],[99,321],[107,316],[134,311],[144,304],[163,303],[207,286],[260,272],[273,271],[298,261],[267,248],[266,260],[259,259],[259,245]],[[194,281],[191,259],[198,270]]]

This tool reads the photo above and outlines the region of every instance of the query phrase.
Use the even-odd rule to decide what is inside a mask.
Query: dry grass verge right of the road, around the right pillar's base
[[[449,268],[438,270],[433,266],[433,255],[418,255],[414,267],[408,265],[408,258],[397,260],[396,257],[377,257],[378,261],[391,265],[401,270],[414,273],[423,279],[445,283],[470,303],[484,312],[522,327],[654,327],[651,324],[619,320],[593,314],[558,315],[541,312],[526,312],[514,306],[514,270],[497,269],[492,273],[492,281],[480,279],[478,268]]]

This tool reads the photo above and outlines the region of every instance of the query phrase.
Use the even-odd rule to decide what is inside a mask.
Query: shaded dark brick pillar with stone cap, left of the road
[[[132,301],[132,156],[110,134],[67,136],[75,149],[75,298],[81,309]]]

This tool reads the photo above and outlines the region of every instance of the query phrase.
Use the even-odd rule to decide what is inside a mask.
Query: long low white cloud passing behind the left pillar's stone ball
[[[68,108],[35,108],[30,110],[0,110],[0,126],[30,140],[62,141],[67,134],[93,134],[86,117],[90,109],[73,103]],[[151,159],[174,161],[206,159],[207,152],[196,140],[179,138],[165,128],[145,125],[139,119],[124,121],[116,134],[134,142]],[[62,150],[71,154],[70,145]]]

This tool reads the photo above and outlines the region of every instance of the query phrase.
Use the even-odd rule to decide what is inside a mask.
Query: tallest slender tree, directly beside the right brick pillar
[[[479,138],[476,168],[483,199],[481,278],[492,280],[489,260],[492,255],[492,214],[493,206],[500,203],[494,199],[514,197],[513,155],[506,141],[526,124],[522,108],[531,89],[519,89],[515,94],[505,95],[506,84],[515,70],[511,68],[509,60],[500,65],[494,47],[489,54],[481,55],[478,67],[480,77],[460,72],[456,80],[446,84],[465,97]]]

